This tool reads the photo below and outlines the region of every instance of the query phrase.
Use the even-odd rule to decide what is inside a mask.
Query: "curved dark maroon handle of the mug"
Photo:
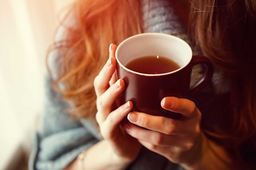
[[[203,77],[189,89],[190,96],[202,90],[202,88],[204,88],[208,83],[210,83],[211,77],[213,77],[214,67],[207,57],[201,55],[193,56],[191,59],[191,67],[193,68],[193,66],[197,64],[204,64],[206,66],[206,71],[204,72]]]

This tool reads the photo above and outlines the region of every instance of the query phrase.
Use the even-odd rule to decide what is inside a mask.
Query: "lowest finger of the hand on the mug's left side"
[[[133,103],[131,101],[126,102],[113,112],[111,112],[105,122],[103,123],[102,133],[110,135],[119,123],[125,118],[125,116],[132,110]]]

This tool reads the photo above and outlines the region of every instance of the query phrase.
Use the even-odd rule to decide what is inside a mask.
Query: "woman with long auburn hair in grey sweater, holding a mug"
[[[47,85],[55,91],[49,88],[31,169],[256,167],[255,1],[77,0],[70,15],[49,57]],[[130,101],[114,105],[125,88],[115,79],[114,44],[143,32],[179,36],[216,68],[195,97],[162,100],[181,120],[130,112]],[[125,116],[130,123],[120,126]]]

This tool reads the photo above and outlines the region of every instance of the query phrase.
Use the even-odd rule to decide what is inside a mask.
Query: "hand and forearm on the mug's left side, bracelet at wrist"
[[[124,90],[123,80],[116,80],[116,60],[113,57],[116,45],[109,48],[109,59],[94,80],[97,95],[96,121],[99,124],[103,140],[86,151],[84,167],[90,170],[120,170],[125,169],[135,160],[141,149],[141,144],[134,137],[124,132],[120,126],[127,114],[132,110],[133,103],[113,109],[116,97]],[[65,170],[78,170],[78,159],[70,163]]]

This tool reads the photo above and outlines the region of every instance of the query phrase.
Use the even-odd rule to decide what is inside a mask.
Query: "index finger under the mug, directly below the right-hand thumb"
[[[184,135],[187,132],[184,121],[170,119],[162,116],[153,116],[141,112],[131,112],[127,116],[128,120],[140,127],[161,132],[169,135]]]

